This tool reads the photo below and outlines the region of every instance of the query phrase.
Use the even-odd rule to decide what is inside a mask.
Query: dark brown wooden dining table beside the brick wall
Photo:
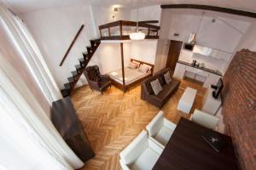
[[[232,140],[218,133],[226,145],[219,152],[201,137],[212,130],[181,118],[165,150],[154,165],[155,170],[238,170]]]

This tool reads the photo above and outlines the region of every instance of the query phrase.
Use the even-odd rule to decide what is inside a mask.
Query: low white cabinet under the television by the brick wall
[[[216,115],[219,107],[221,106],[222,101],[220,95],[218,96],[218,99],[213,98],[212,91],[213,89],[211,87],[207,89],[207,93],[205,94],[203,99],[202,111],[205,111],[212,115]]]

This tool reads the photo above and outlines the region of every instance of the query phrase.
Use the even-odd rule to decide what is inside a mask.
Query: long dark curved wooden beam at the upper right
[[[223,8],[223,7],[216,7],[210,5],[197,5],[197,4],[171,4],[171,5],[161,5],[161,8],[195,8],[195,9],[203,9],[203,10],[211,10],[220,13],[227,13],[227,14],[236,14],[241,16],[246,16],[250,18],[256,18],[256,13],[243,11],[235,8]]]

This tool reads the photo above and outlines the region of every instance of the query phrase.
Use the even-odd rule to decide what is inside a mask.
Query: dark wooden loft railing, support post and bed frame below
[[[160,30],[160,26],[154,26],[148,23],[158,23],[158,20],[148,20],[148,21],[140,21],[138,22],[139,30],[141,31],[147,31],[145,39],[158,39],[158,31]],[[102,42],[118,42],[120,43],[120,56],[121,56],[121,65],[122,65],[122,84],[114,80],[113,78],[110,77],[111,82],[113,83],[114,86],[117,88],[120,88],[123,90],[123,92],[126,92],[128,88],[131,88],[131,86],[137,84],[138,82],[142,82],[144,79],[151,77],[154,72],[154,65],[137,60],[137,59],[131,59],[132,61],[135,61],[137,63],[140,63],[141,65],[149,65],[151,66],[150,69],[150,74],[148,74],[146,77],[142,77],[137,79],[134,82],[131,83],[125,83],[125,65],[124,65],[124,42],[127,40],[130,40],[129,35],[125,35],[124,33],[124,26],[129,26],[129,27],[136,27],[137,22],[134,21],[128,21],[128,20],[118,20],[114,21],[102,26],[99,26],[100,30],[100,35],[101,35],[101,40]],[[129,28],[128,27],[128,28]],[[119,35],[112,34],[111,30],[119,31]],[[107,30],[107,36],[102,33],[102,31]],[[109,41],[108,41],[109,40]],[[115,40],[115,41],[114,41]]]

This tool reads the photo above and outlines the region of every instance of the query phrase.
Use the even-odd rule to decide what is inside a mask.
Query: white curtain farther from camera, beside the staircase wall
[[[53,101],[61,99],[60,90],[26,25],[18,16],[10,13],[3,4],[0,5],[0,20],[6,33],[13,41],[13,47],[16,48],[20,54],[19,57],[26,63],[26,67],[29,68],[49,105]]]

